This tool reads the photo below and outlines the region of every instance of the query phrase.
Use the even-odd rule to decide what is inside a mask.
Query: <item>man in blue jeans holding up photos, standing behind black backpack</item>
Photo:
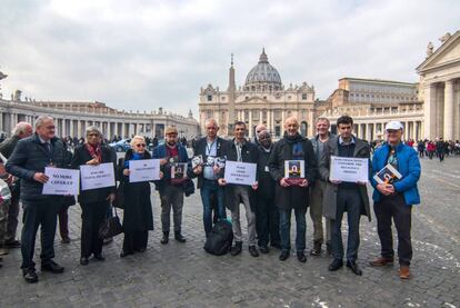
[[[226,219],[226,206],[223,201],[223,187],[218,183],[219,167],[216,159],[222,156],[222,147],[227,142],[218,137],[219,126],[214,119],[208,119],[204,123],[206,137],[198,140],[193,149],[193,156],[201,156],[203,165],[193,169],[193,175],[198,177],[198,189],[201,191],[203,203],[203,226],[208,237],[212,229],[212,203],[211,197],[217,201],[218,220]]]

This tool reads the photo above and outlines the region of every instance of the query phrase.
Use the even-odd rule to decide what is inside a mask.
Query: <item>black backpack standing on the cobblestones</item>
[[[220,220],[212,227],[203,248],[208,254],[222,256],[230,250],[232,241],[231,223],[227,220]]]

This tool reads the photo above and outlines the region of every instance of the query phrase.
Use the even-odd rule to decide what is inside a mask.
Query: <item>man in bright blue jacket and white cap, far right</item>
[[[420,203],[417,188],[420,178],[420,161],[416,150],[402,143],[402,130],[401,122],[388,122],[386,126],[387,143],[379,147],[372,158],[373,175],[387,165],[391,165],[401,173],[401,178],[393,182],[378,183],[372,175],[373,210],[381,242],[381,256],[370,265],[383,267],[393,264],[392,218],[398,230],[399,277],[408,279],[410,277],[410,260],[412,259],[411,210],[413,205]]]

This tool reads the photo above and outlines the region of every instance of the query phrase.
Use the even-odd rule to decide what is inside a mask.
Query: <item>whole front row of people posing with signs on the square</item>
[[[47,116],[36,120],[36,131],[20,139],[8,158],[6,170],[20,179],[20,199],[23,208],[23,228],[21,235],[22,274],[28,282],[37,282],[38,276],[33,262],[34,241],[38,227],[41,226],[42,251],[41,269],[54,274],[63,272],[63,267],[53,261],[53,239],[57,213],[60,211],[60,196],[42,195],[43,183],[48,181],[46,167],[73,168],[82,165],[113,165],[119,190],[123,196],[124,239],[120,257],[143,252],[148,245],[149,230],[153,229],[150,183],[130,182],[132,160],[160,159],[160,179],[154,181],[161,201],[161,244],[169,242],[170,216],[173,212],[173,232],[178,242],[186,242],[182,234],[183,198],[193,193],[192,178],[198,178],[203,205],[203,228],[208,237],[218,220],[227,219],[226,208],[231,212],[234,242],[230,249],[232,256],[242,252],[243,236],[240,222],[240,205],[244,207],[248,226],[248,250],[252,257],[268,254],[270,248],[280,249],[279,259],[291,256],[291,215],[294,212],[294,250],[300,262],[307,261],[304,254],[307,209],[313,222],[312,256],[320,256],[322,245],[333,256],[329,270],[343,266],[356,275],[362,275],[357,264],[360,245],[359,225],[361,215],[371,217],[370,201],[366,182],[334,181],[330,179],[330,159],[332,156],[364,158],[369,160],[369,179],[374,188],[373,208],[378,220],[378,234],[381,240],[381,256],[370,264],[387,266],[393,262],[391,219],[398,229],[399,276],[409,278],[409,265],[412,257],[410,240],[411,207],[420,202],[417,181],[420,177],[420,163],[417,152],[401,141],[403,127],[399,122],[389,122],[386,127],[387,143],[376,150],[370,161],[369,145],[352,135],[353,120],[342,116],[337,121],[338,136],[329,132],[329,120],[319,118],[316,122],[317,136],[307,139],[299,133],[299,121],[291,117],[284,121],[284,135],[272,142],[263,125],[256,127],[256,140],[246,139],[244,122],[233,125],[233,139],[218,137],[219,126],[214,119],[206,121],[207,136],[194,142],[193,155],[201,156],[207,163],[192,167],[186,148],[178,142],[174,127],[166,129],[166,142],[154,148],[152,155],[147,151],[146,139],[136,136],[131,140],[123,159],[117,163],[114,151],[103,143],[99,128],[89,127],[86,142],[74,149],[70,161],[66,159],[63,142],[56,138],[53,119]],[[226,161],[250,162],[257,165],[257,181],[251,186],[228,183],[224,178]],[[292,182],[286,177],[286,161],[301,160],[304,176]],[[188,163],[186,178],[171,176],[176,163]],[[378,183],[373,175],[391,163],[402,175],[392,183]],[[81,256],[80,264],[89,264],[91,256],[103,261],[102,240],[98,236],[99,226],[112,213],[111,203],[118,195],[116,187],[83,190],[78,196],[81,207]],[[216,211],[216,219],[212,218]],[[348,219],[347,254],[342,244],[341,222],[343,213]],[[326,232],[323,231],[326,218]],[[1,228],[0,228],[1,230]],[[1,239],[1,238],[0,238]],[[19,244],[19,242],[18,242]]]

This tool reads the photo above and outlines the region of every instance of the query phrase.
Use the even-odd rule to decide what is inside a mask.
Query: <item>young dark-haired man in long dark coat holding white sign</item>
[[[370,147],[368,142],[356,138],[352,135],[353,119],[342,116],[337,120],[339,138],[330,139],[324,145],[324,151],[320,160],[320,175],[327,180],[323,195],[323,215],[331,219],[332,235],[331,246],[333,261],[329,265],[329,270],[338,270],[343,266],[343,244],[342,244],[342,217],[347,211],[348,218],[348,246],[347,246],[347,267],[356,275],[361,276],[362,271],[356,262],[359,248],[359,222],[361,215],[367,215],[370,221],[369,197],[366,182],[348,182],[330,180],[331,156],[367,158],[369,160]]]

